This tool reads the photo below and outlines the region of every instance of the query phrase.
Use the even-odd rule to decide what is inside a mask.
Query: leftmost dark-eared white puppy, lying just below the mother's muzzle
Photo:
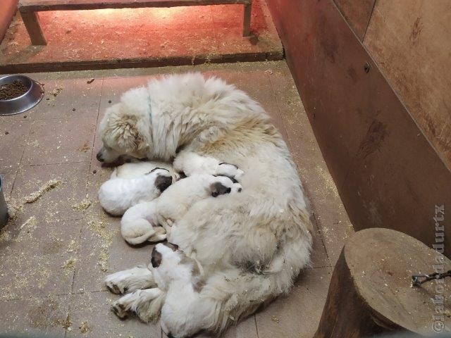
[[[152,201],[171,184],[171,173],[161,168],[137,178],[113,178],[101,184],[100,205],[111,215],[123,215],[135,204]]]

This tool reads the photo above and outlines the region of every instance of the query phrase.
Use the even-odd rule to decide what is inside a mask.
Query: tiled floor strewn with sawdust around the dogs
[[[0,232],[0,332],[162,336],[158,325],[121,321],[109,311],[116,296],[101,280],[148,262],[151,248],[125,244],[119,219],[97,204],[97,188],[110,170],[95,160],[101,146],[95,130],[104,109],[125,89],[157,73],[188,70],[223,77],[261,102],[290,146],[315,215],[312,268],[302,272],[288,296],[224,337],[312,337],[333,265],[353,230],[283,61],[31,75],[45,84],[43,101],[32,111],[0,116],[4,193],[18,201],[48,180],[61,184],[25,204]],[[84,199],[92,201],[87,209],[78,207]]]

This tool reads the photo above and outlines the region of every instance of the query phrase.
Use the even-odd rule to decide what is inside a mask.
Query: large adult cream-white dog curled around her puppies
[[[221,332],[288,292],[309,265],[311,222],[295,165],[268,115],[244,92],[199,74],[151,80],[107,109],[100,132],[99,161],[123,154],[177,161],[190,151],[244,170],[240,194],[202,199],[172,228],[168,240],[195,256],[205,285],[174,309],[178,323],[162,313],[167,334]],[[155,283],[152,272],[142,272],[148,277],[142,282],[129,271],[110,283],[129,291],[130,285]],[[130,310],[142,320],[156,320],[171,296],[171,289],[144,290]],[[186,313],[194,314],[192,322],[183,319]]]

